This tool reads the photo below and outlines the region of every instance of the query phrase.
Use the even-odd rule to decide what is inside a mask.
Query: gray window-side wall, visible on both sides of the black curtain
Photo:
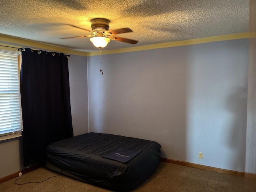
[[[88,132],[87,60],[71,55],[68,59],[70,103],[74,136]],[[22,168],[22,138],[0,141],[0,178]]]

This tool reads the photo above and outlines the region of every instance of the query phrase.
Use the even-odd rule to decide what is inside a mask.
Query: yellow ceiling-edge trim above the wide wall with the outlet
[[[193,44],[202,44],[202,43],[209,43],[209,42],[216,42],[216,41],[226,41],[226,40],[244,39],[244,38],[252,38],[252,37],[256,37],[255,32],[220,35],[220,36],[183,40],[183,41],[175,41],[175,42],[167,42],[167,43],[159,43],[159,44],[144,45],[144,46],[137,46],[137,47],[130,47],[130,48],[104,50],[103,54],[105,55],[105,54],[116,54],[116,53],[124,53],[124,52],[134,52],[134,51],[186,46],[186,45],[193,45]],[[96,55],[100,55],[99,51],[87,53],[87,56],[96,56]]]

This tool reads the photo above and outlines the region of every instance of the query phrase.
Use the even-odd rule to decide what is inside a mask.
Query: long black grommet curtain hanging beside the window
[[[43,163],[47,144],[73,136],[67,56],[25,48],[20,94],[24,166]]]

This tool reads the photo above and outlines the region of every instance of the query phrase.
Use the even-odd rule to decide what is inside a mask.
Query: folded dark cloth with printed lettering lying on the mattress
[[[127,163],[132,158],[134,158],[136,155],[140,154],[142,151],[131,151],[127,149],[120,148],[118,150],[115,150],[114,152],[111,152],[107,155],[102,156],[103,158],[119,161],[122,163]]]

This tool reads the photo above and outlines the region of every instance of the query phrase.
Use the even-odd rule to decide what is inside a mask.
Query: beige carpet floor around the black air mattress
[[[46,168],[24,174],[17,183],[42,181],[58,175]],[[16,185],[9,180],[0,184],[0,192],[108,192],[65,176],[46,182]],[[156,172],[134,192],[256,192],[254,181],[185,166],[161,162]]]

